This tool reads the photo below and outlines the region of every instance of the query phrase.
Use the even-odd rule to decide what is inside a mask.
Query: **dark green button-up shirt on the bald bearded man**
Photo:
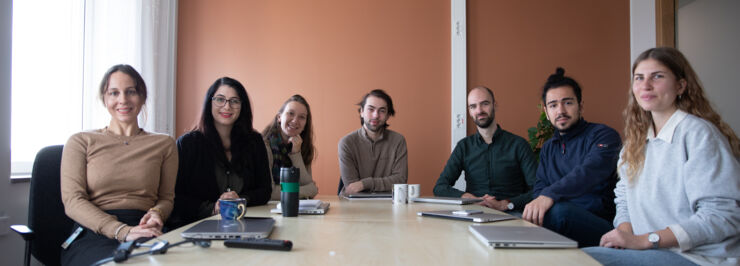
[[[486,144],[478,132],[457,143],[434,186],[435,196],[488,194],[498,200],[510,200],[519,210],[532,200],[537,171],[534,154],[524,138],[496,126],[491,144]],[[452,187],[462,171],[465,192]]]

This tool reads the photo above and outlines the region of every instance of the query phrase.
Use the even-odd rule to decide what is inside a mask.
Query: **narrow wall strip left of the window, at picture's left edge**
[[[28,183],[10,183],[10,68],[12,0],[0,0],[0,216],[7,224],[25,224]],[[0,228],[0,265],[22,265],[25,245],[5,224]]]

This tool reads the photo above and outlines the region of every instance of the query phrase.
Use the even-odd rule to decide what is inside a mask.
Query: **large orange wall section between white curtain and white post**
[[[450,4],[447,0],[181,0],[177,134],[198,117],[208,86],[241,81],[261,131],[290,95],[314,116],[319,194],[336,194],[337,142],[360,127],[355,104],[386,90],[391,129],[406,137],[409,183],[431,195],[449,156]]]

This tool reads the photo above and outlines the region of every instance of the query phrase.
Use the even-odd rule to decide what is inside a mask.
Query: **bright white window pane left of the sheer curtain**
[[[43,6],[44,8],[39,8]],[[81,1],[14,1],[11,173],[82,130]]]

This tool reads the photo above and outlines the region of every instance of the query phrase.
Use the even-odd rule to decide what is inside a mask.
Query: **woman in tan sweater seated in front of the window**
[[[64,146],[62,201],[75,230],[82,231],[62,251],[63,265],[90,265],[111,256],[119,242],[162,234],[172,211],[178,154],[171,137],[139,127],[146,95],[133,67],[111,67],[100,84],[110,124],[77,133]]]

